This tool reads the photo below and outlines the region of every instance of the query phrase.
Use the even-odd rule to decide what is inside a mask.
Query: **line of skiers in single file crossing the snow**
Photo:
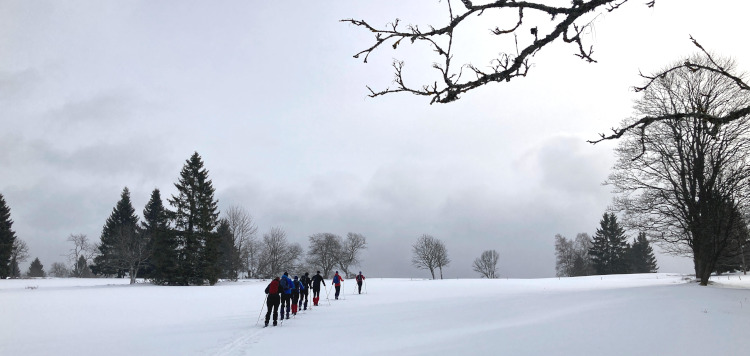
[[[362,271],[359,272],[356,280],[359,294],[362,294],[362,282],[365,280]],[[336,271],[336,274],[333,275],[333,280],[331,281],[333,287],[336,288],[336,299],[339,299],[341,283],[343,281],[344,278],[339,275],[339,271]],[[282,321],[284,320],[285,312],[286,318],[289,319],[291,315],[297,315],[297,310],[307,310],[310,289],[313,291],[313,306],[318,306],[318,302],[320,302],[321,283],[323,283],[323,286],[326,286],[326,282],[323,276],[320,275],[320,271],[312,276],[312,278],[310,278],[308,272],[305,272],[302,278],[294,276],[294,279],[290,279],[289,273],[284,272],[284,275],[281,277],[276,277],[271,280],[271,283],[266,287],[266,294],[268,295],[266,297],[266,307],[268,308],[268,311],[266,312],[265,326],[268,326],[268,323],[271,320],[272,311],[273,326],[278,325],[279,305],[281,306]]]

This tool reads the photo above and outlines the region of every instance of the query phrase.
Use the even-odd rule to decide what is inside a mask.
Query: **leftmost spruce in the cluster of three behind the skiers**
[[[100,275],[125,276],[127,269],[122,264],[123,239],[132,239],[138,234],[138,216],[130,201],[130,190],[123,188],[120,201],[112,209],[102,228],[101,242],[97,246],[99,255],[94,258],[91,270]]]

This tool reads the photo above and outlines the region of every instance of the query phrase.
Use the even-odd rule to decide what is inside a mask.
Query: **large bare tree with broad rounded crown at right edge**
[[[750,92],[722,73],[679,63],[734,68],[731,61],[703,53],[650,80],[636,103],[637,114],[667,119],[622,136],[608,182],[626,226],[649,231],[667,252],[691,256],[696,277],[706,285],[732,239],[737,212],[748,205],[750,123],[670,115],[730,115],[750,104]]]

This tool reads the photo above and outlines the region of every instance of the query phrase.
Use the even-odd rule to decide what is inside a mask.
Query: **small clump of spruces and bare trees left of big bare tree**
[[[658,270],[646,234],[631,245],[612,213],[605,213],[594,238],[580,233],[575,239],[555,236],[555,271],[558,277],[602,274],[653,273]]]

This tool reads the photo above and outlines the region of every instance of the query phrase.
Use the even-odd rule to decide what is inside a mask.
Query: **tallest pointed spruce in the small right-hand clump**
[[[604,213],[599,224],[589,250],[594,271],[596,274],[630,273],[630,246],[625,230],[617,223],[617,216]]]

